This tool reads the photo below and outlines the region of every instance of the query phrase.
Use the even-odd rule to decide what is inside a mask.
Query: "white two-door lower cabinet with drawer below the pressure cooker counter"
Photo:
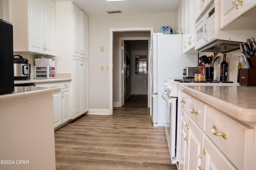
[[[70,82],[36,83],[36,87],[59,87],[60,92],[53,93],[54,128],[63,125],[71,119]]]

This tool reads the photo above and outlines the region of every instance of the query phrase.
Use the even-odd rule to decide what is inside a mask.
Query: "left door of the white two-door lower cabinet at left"
[[[61,93],[53,93],[53,120],[54,128],[62,124],[62,115],[61,115]]]

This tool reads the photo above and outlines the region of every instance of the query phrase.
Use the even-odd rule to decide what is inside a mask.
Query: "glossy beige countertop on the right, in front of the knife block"
[[[178,88],[235,119],[256,122],[256,87],[179,85]]]

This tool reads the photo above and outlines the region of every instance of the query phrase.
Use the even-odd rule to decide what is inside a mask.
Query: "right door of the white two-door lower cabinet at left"
[[[61,89],[62,93],[62,123],[70,120],[70,88]]]

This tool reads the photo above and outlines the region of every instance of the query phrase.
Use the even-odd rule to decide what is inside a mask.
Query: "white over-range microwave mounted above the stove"
[[[195,50],[226,53],[256,35],[255,30],[220,30],[220,0],[211,0],[196,20]]]

